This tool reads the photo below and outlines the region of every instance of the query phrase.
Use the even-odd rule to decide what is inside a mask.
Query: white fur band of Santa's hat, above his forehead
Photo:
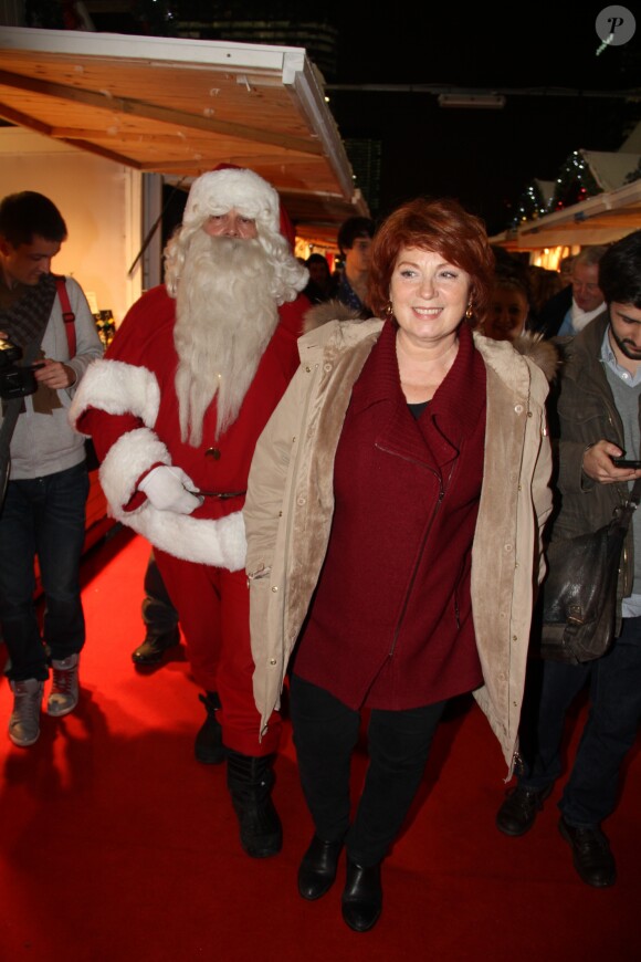
[[[211,215],[235,208],[243,217],[258,220],[277,234],[281,223],[279,195],[253,170],[224,168],[202,174],[191,185],[182,224],[202,223]]]

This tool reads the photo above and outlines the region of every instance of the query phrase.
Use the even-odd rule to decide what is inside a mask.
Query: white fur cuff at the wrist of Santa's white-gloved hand
[[[149,428],[127,431],[112,445],[101,464],[99,478],[114,517],[124,521],[130,514],[124,510],[124,505],[136,493],[140,474],[158,463],[171,464],[171,458],[166,446]]]

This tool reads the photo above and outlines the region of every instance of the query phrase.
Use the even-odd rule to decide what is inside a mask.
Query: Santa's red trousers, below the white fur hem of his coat
[[[269,755],[279,747],[281,717],[273,712],[259,741],[260,714],[252,688],[250,592],[244,571],[228,572],[182,561],[154,548],[158,569],[180,619],[187,657],[198,684],[217,691],[225,747]]]

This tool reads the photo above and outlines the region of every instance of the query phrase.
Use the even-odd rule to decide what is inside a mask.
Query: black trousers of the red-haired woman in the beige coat
[[[291,678],[298,771],[319,838],[345,838],[349,858],[360,866],[371,867],[385,858],[420,786],[445,704],[406,711],[372,709],[367,730],[369,764],[350,825],[350,761],[360,712],[296,675]]]

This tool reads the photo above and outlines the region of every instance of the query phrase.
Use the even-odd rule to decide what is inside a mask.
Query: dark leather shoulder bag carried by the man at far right
[[[639,500],[637,481],[609,524],[553,541],[539,597],[542,658],[579,665],[600,658],[614,640],[617,581],[626,533]]]

